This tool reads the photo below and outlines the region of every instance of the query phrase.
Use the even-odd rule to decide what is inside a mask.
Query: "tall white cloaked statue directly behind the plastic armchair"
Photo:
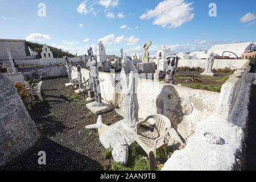
[[[120,75],[122,92],[123,92],[123,116],[124,122],[131,129],[135,129],[135,124],[138,121],[137,107],[135,105],[135,78],[136,70],[133,66],[133,61],[127,57],[122,60],[122,71]]]

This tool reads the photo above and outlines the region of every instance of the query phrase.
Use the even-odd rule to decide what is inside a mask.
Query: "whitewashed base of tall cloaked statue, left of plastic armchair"
[[[134,142],[135,128],[132,129],[129,126],[127,126],[124,120],[114,123],[113,125],[111,125],[111,127],[117,129],[119,133],[121,133],[122,137],[125,138],[129,146]]]

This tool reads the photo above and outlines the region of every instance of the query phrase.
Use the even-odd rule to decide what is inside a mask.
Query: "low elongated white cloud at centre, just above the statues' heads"
[[[98,39],[98,41],[104,43],[106,46],[112,45],[112,44],[120,44],[124,43],[126,45],[135,45],[139,43],[139,38],[135,38],[135,36],[130,36],[125,38],[125,35],[117,36],[115,38],[114,34],[110,34],[105,36],[104,38]]]

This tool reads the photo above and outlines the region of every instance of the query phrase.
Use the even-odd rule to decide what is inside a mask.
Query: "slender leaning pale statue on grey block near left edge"
[[[10,72],[10,67],[9,67],[9,69],[7,69],[7,71],[9,71],[9,73],[7,75],[5,74],[3,76],[9,78],[9,80],[13,81],[13,83],[23,82],[24,81],[23,73],[18,73],[16,68],[14,67],[14,60],[13,60],[13,57],[11,56],[11,49],[7,42],[5,42],[5,48],[6,48],[8,56],[9,56],[12,72]],[[5,66],[8,67],[7,64],[5,64]]]

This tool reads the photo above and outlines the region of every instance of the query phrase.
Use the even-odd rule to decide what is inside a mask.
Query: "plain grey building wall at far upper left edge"
[[[11,49],[11,56],[13,59],[27,59],[26,46],[24,41],[7,41]],[[5,41],[0,41],[0,60],[9,60],[6,52]]]

